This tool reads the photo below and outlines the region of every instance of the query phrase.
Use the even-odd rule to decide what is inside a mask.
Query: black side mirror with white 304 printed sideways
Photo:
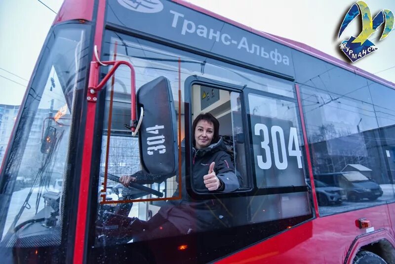
[[[144,117],[139,129],[140,160],[152,175],[174,175],[177,171],[177,119],[170,82],[159,77],[138,89],[137,116]]]

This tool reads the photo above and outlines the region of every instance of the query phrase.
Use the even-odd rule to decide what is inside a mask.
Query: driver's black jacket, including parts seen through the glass
[[[192,231],[208,230],[215,227],[226,226],[222,203],[217,200],[194,200],[186,189],[185,185],[185,146],[182,148],[182,188],[181,199],[168,200],[166,206],[162,206],[159,214],[173,223],[181,233],[187,234]],[[193,164],[191,181],[195,190],[205,190],[207,188],[203,182],[203,176],[208,174],[209,166],[215,162],[214,172],[223,182],[222,192],[232,192],[239,188],[239,180],[235,174],[235,167],[231,161],[231,156],[226,152],[226,146],[220,138],[217,143],[213,143],[206,148],[192,149]],[[189,173],[189,172],[187,172]],[[162,182],[171,176],[147,175],[142,171],[133,175],[136,182],[140,184],[151,184]],[[218,192],[218,190],[216,191]],[[179,196],[179,188],[174,192],[173,197]]]

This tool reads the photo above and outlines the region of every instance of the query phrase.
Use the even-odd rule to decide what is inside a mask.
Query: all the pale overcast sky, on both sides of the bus
[[[60,0],[41,1],[56,12],[61,6]],[[254,29],[311,45],[341,59],[340,42],[359,34],[357,21],[353,21],[341,39],[336,38],[343,16],[356,1],[189,1]],[[384,8],[395,12],[394,0],[366,2],[373,16]],[[54,17],[55,14],[38,0],[0,1],[0,104],[21,103]],[[379,37],[375,33],[369,38],[379,49],[354,65],[395,83],[395,33],[380,42]]]

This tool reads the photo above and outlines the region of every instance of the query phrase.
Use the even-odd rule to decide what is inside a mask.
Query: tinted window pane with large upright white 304
[[[257,187],[305,185],[297,103],[249,93],[248,109]]]

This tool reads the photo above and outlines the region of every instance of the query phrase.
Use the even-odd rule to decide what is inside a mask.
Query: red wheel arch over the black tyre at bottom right
[[[344,263],[363,264],[364,262],[362,261],[355,261],[374,258],[372,254],[363,252],[370,252],[373,255],[377,255],[386,263],[395,263],[395,239],[384,229],[358,236],[349,249]]]

